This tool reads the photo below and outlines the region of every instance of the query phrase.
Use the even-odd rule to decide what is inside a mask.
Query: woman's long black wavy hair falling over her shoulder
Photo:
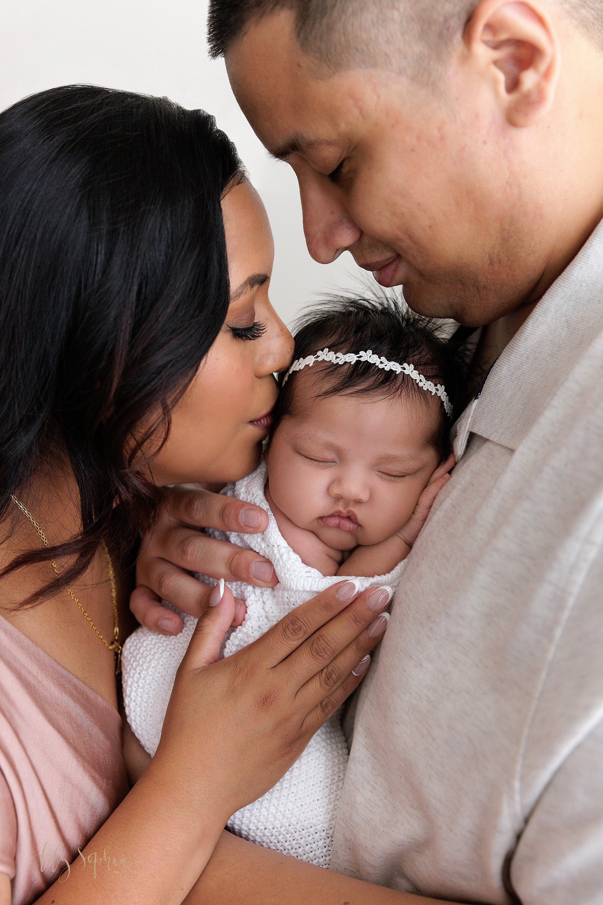
[[[221,197],[242,178],[214,119],[165,98],[71,85],[0,114],[0,519],[53,456],[81,501],[78,538],[5,570],[71,556],[27,603],[153,523],[134,461],[223,324]]]

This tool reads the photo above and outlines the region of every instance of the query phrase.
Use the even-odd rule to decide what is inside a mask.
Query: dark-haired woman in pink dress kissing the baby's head
[[[220,662],[241,613],[214,595],[128,791],[121,564],[162,485],[258,462],[291,348],[271,266],[259,198],[202,111],[75,86],[0,115],[2,905],[184,901],[231,814],[360,681],[374,614],[352,583]]]

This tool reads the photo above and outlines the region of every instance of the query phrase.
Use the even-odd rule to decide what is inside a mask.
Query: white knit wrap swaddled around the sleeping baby
[[[255,641],[295,606],[342,580],[338,576],[325,577],[306,566],[288,546],[264,495],[265,484],[266,465],[261,462],[247,478],[222,491],[268,512],[269,527],[263,534],[229,533],[228,538],[269,558],[279,579],[274,588],[231,583],[232,593],[247,603],[247,616],[224,643],[224,656]],[[217,531],[212,531],[212,535],[226,538]],[[357,579],[361,590],[376,584],[395,589],[405,565],[405,561],[401,562],[386,576]],[[200,577],[214,584],[212,579]],[[184,631],[175,637],[139,628],[124,645],[122,678],[127,721],[151,755],[159,743],[175,672],[196,624],[191,616],[183,614],[183,618]],[[339,715],[335,714],[318,729],[301,757],[276,786],[233,814],[229,828],[251,842],[328,867],[347,757]]]

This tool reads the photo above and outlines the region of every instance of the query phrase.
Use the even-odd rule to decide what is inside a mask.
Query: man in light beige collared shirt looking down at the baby
[[[212,0],[210,39],[316,260],[488,325],[334,869],[400,905],[603,902],[603,0]]]

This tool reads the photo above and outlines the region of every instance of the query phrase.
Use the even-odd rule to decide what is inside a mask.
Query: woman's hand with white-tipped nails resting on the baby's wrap
[[[149,769],[177,763],[190,795],[210,786],[225,824],[287,772],[354,691],[387,627],[390,597],[382,587],[357,595],[357,584],[343,581],[214,662],[234,611],[226,587],[193,633]]]

